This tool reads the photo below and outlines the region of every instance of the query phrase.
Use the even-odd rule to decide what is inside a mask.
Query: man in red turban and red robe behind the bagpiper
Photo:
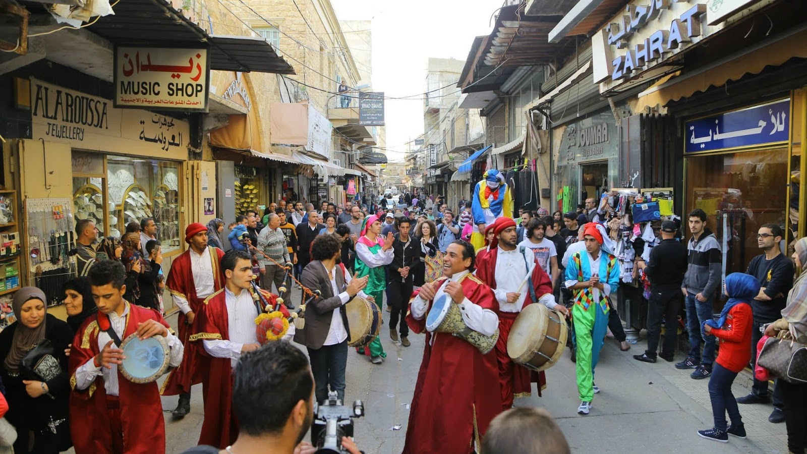
[[[224,275],[219,267],[224,251],[207,246],[207,227],[199,222],[186,227],[185,242],[190,248],[171,263],[165,287],[179,308],[177,330],[179,339],[187,346],[199,305],[224,286]],[[205,361],[193,348],[188,348],[182,365],[165,379],[160,393],[164,396],[179,394],[177,408],[172,412],[175,419],[184,418],[190,412],[190,387],[202,383],[207,371]]]

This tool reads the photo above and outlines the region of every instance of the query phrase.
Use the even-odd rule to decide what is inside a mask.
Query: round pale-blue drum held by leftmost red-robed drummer
[[[118,370],[132,383],[149,383],[160,378],[169,367],[170,349],[161,335],[140,340],[131,334],[120,344],[125,357]]]

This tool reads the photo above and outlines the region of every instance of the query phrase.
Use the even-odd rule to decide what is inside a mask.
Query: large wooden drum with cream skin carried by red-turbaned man
[[[568,335],[560,313],[541,304],[527,305],[512,324],[507,354],[525,368],[540,372],[558,362]]]

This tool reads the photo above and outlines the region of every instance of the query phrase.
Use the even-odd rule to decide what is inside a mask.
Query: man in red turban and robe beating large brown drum
[[[532,393],[533,382],[537,383],[539,396],[546,386],[543,371],[530,371],[510,359],[507,341],[513,322],[521,309],[533,302],[564,314],[568,309],[555,303],[552,281],[537,263],[533,251],[517,246],[516,222],[509,217],[500,217],[494,225],[490,250],[477,258],[476,275],[493,289],[499,302],[499,340],[495,351],[499,361],[502,408],[508,410],[514,397],[527,397]]]

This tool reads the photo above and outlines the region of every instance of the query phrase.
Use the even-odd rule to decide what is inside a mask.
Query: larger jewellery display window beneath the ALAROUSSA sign
[[[110,233],[125,233],[129,222],[153,217],[164,253],[180,248],[179,163],[107,158]]]

